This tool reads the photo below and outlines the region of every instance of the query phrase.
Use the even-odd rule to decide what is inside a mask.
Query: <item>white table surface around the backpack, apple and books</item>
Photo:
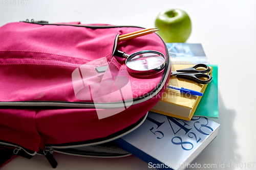
[[[17,0],[16,0],[17,1]],[[21,2],[21,0],[19,0]],[[0,2],[3,2],[0,0]],[[9,0],[8,0],[9,2]],[[0,5],[0,26],[8,22],[35,19],[49,22],[81,21],[111,23],[144,28],[154,27],[157,14],[168,8],[185,10],[193,30],[188,43],[202,43],[210,64],[219,65],[219,119],[217,138],[193,161],[201,164],[225,163],[225,169],[245,169],[256,162],[256,1],[35,1],[27,6]],[[244,82],[247,82],[246,84]],[[135,156],[115,159],[87,158],[55,154],[57,169],[149,169]],[[240,167],[228,168],[228,163]],[[246,166],[247,167],[247,166]],[[52,169],[44,156],[16,157],[6,169]],[[191,168],[195,169],[195,168]],[[247,168],[246,168],[247,169]],[[248,169],[256,169],[254,167]]]

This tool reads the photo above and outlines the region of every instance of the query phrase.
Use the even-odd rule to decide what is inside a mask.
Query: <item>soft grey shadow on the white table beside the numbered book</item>
[[[200,164],[207,169],[234,169],[234,165],[241,161],[241,156],[236,154],[238,150],[237,134],[233,128],[234,110],[226,109],[222,96],[219,94],[219,119],[212,119],[220,124],[218,136],[191,164]],[[199,166],[200,166],[199,165]],[[187,168],[187,169],[195,169]]]

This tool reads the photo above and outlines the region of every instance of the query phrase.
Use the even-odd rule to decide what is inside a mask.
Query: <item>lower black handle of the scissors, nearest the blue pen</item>
[[[200,83],[200,84],[208,84],[211,82],[212,80],[212,77],[210,75],[206,75],[206,74],[203,74],[203,73],[195,73],[195,74],[189,74],[189,73],[182,73],[182,74],[177,74],[176,75],[177,78],[183,78],[183,79],[189,79],[189,80],[193,80],[197,83]],[[201,80],[199,78],[207,78],[207,80]]]

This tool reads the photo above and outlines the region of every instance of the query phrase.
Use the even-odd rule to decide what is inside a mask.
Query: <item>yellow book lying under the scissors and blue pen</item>
[[[172,71],[184,69],[191,66],[194,65],[173,64]],[[169,78],[168,84],[177,87],[188,88],[202,93],[204,93],[207,86],[207,84],[199,84],[189,79],[177,78],[176,76],[171,76]],[[201,98],[202,96],[191,95],[188,93],[180,93],[176,90],[165,89],[161,99],[155,106],[152,107],[151,111],[181,118],[184,120],[190,120]]]

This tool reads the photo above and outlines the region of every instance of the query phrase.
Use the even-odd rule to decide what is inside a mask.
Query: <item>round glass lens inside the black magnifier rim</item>
[[[155,53],[142,53],[127,59],[127,67],[137,71],[147,71],[160,68],[165,62],[165,58]]]

